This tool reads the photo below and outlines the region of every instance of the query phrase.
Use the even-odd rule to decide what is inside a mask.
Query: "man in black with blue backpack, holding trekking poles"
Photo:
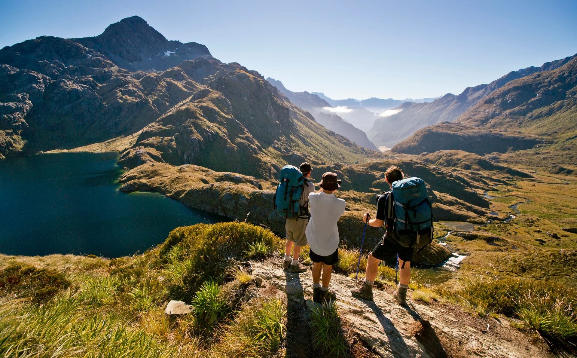
[[[406,305],[411,279],[411,258],[415,248],[421,249],[433,239],[432,208],[425,182],[419,178],[403,180],[403,176],[399,167],[389,167],[385,172],[385,181],[391,191],[383,192],[378,197],[376,218],[371,219],[368,212],[363,215],[363,222],[375,228],[385,225],[387,233],[369,253],[365,281],[361,287],[351,290],[354,297],[372,301],[373,283],[379,263],[398,255],[400,279],[393,296],[399,304]]]

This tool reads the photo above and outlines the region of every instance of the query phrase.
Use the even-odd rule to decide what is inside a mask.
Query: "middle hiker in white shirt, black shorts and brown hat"
[[[340,182],[335,173],[324,173],[319,183],[321,189],[309,194],[310,221],[306,226],[306,238],[309,241],[310,260],[313,262],[313,301],[319,303],[336,299],[336,294],[329,290],[328,285],[331,282],[332,265],[339,260],[340,239],[336,223],[344,214],[346,205],[343,199],[335,196]]]

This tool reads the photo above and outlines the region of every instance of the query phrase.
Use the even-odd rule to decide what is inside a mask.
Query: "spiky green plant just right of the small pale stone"
[[[204,282],[192,300],[193,314],[201,327],[212,327],[229,312],[227,302],[219,296],[220,288],[215,282]]]

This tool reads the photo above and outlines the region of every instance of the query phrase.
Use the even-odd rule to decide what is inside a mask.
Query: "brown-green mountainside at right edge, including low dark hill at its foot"
[[[411,154],[458,149],[478,154],[527,150],[505,156],[509,160],[516,156],[518,162],[529,165],[575,165],[577,55],[557,64],[560,62],[563,65],[551,65],[552,70],[508,81],[461,114],[454,124],[418,130],[392,150]]]

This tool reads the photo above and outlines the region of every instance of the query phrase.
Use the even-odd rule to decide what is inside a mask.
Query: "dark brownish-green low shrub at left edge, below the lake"
[[[33,302],[46,302],[70,284],[64,274],[47,268],[12,264],[0,271],[0,293],[18,293]]]

